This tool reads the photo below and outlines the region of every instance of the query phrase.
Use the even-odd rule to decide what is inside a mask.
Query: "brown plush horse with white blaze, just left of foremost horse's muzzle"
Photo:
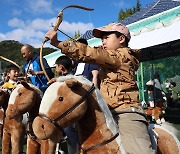
[[[6,118],[3,130],[2,153],[9,154],[12,147],[12,154],[22,153],[26,126],[23,120],[23,114],[28,112],[27,126],[27,154],[36,154],[40,151],[40,144],[46,154],[50,145],[49,141],[37,140],[32,131],[32,122],[38,115],[41,103],[40,91],[33,85],[22,81],[12,91],[8,108],[6,110]],[[46,150],[46,151],[45,151]]]

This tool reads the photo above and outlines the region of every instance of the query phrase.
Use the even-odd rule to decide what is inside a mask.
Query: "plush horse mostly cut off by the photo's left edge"
[[[9,92],[7,89],[0,87],[0,136],[3,134],[3,123],[5,118],[5,112],[9,101]]]

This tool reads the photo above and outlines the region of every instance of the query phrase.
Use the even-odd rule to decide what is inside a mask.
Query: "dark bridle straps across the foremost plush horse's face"
[[[50,123],[52,123],[55,127],[57,127],[60,130],[63,130],[62,126],[60,126],[57,121],[60,121],[61,119],[63,119],[65,116],[67,116],[69,113],[71,113],[75,108],[77,108],[82,102],[83,100],[87,99],[88,95],[91,94],[94,91],[95,87],[94,84],[89,88],[89,90],[85,93],[85,95],[83,95],[72,107],[70,107],[68,110],[66,110],[66,112],[64,112],[63,114],[61,114],[59,117],[57,117],[56,119],[51,119],[43,114],[39,114],[39,117],[49,121]]]

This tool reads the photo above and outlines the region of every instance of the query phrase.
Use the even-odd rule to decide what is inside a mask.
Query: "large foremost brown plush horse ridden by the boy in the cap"
[[[73,123],[77,124],[79,153],[125,153],[117,125],[99,90],[83,77],[60,77],[46,90],[33,130],[39,139],[55,138],[59,137],[58,131]],[[163,135],[158,135],[158,143],[163,143]],[[164,148],[173,147],[177,152],[176,141],[171,141]]]

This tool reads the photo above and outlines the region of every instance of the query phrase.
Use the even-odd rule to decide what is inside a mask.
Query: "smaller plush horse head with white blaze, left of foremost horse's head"
[[[28,112],[36,102],[40,102],[40,99],[40,91],[35,86],[21,81],[10,95],[6,110],[7,118],[11,119]]]

